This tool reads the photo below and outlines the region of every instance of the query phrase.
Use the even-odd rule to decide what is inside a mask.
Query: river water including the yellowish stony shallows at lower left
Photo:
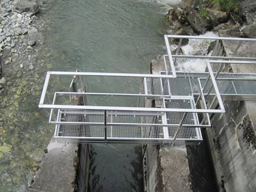
[[[166,3],[179,1],[43,2],[41,17],[47,23],[43,34],[46,51],[43,54],[47,55],[45,62],[51,63],[53,70],[147,73],[152,58],[166,52],[161,35],[161,30],[168,28],[164,17],[168,11]],[[38,81],[37,87],[42,87],[45,71],[40,75],[42,81]],[[139,82],[132,80],[121,82],[119,86],[88,83],[106,90],[126,87],[132,92],[139,88]],[[59,85],[61,82],[56,86]],[[13,116],[19,120],[18,124],[9,122],[13,127],[3,125],[13,129],[13,134],[3,135],[4,140],[13,146],[9,157],[0,158],[1,192],[26,191],[43,149],[51,139],[53,127],[47,125],[48,114],[37,108],[39,96],[27,96],[22,100],[22,107],[14,109]],[[126,105],[133,105],[132,102],[127,100]],[[140,145],[112,144],[105,147],[94,144],[91,154],[91,192],[143,191]]]

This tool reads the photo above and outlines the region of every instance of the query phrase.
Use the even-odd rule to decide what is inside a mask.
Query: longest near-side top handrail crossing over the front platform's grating
[[[111,110],[111,111],[158,111],[158,112],[198,112],[198,113],[222,113],[219,109],[171,109],[150,107],[115,107],[115,106],[82,106],[82,105],[38,105],[46,109],[85,109],[85,110]]]

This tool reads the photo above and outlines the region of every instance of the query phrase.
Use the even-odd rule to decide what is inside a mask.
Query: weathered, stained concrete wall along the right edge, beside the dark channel
[[[224,42],[227,56],[237,42]],[[256,47],[245,43],[237,56],[255,57]],[[231,65],[234,72],[256,72],[253,65]],[[256,104],[252,101],[224,102],[226,113],[214,115],[213,129],[207,129],[219,191],[256,191]]]

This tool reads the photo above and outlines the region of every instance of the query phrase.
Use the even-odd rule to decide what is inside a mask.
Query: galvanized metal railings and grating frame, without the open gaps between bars
[[[176,51],[176,55],[172,55],[170,51],[169,38],[179,38],[179,45]],[[184,38],[189,39],[201,39],[201,40],[231,40],[239,41],[237,47],[234,50],[232,57],[224,56],[184,56],[178,55],[179,49],[181,47],[182,40]],[[243,93],[239,92],[238,83],[249,82],[254,83],[256,87],[256,74],[253,73],[223,73],[223,66],[225,63],[234,64],[256,64],[256,58],[244,58],[235,57],[240,45],[244,41],[256,42],[256,39],[245,39],[245,38],[230,38],[230,37],[203,37],[203,36],[169,36],[165,35],[165,43],[168,51],[168,55],[164,55],[164,67],[165,71],[160,72],[160,74],[139,74],[139,73],[100,73],[100,72],[60,72],[51,71],[47,72],[46,80],[43,86],[42,95],[40,99],[39,107],[51,109],[49,122],[50,124],[55,124],[55,139],[57,141],[68,141],[68,142],[142,142],[142,143],[162,143],[162,144],[172,144],[174,142],[200,142],[202,140],[200,127],[211,127],[210,114],[224,113],[223,100],[227,99],[256,99],[255,93]],[[218,49],[219,41],[216,43],[215,48]],[[219,52],[220,50],[217,50]],[[218,54],[217,54],[218,55]],[[166,58],[169,58],[169,66],[167,64]],[[178,58],[201,58],[206,59],[206,70],[207,72],[179,72],[175,70],[175,62]],[[211,60],[209,60],[211,59]],[[219,69],[214,72],[211,65],[220,63]],[[169,68],[169,70],[168,70]],[[72,81],[68,91],[54,91],[52,94],[52,101],[46,104],[45,97],[47,95],[47,88],[50,83],[50,77],[55,75],[71,76]],[[85,91],[85,78],[90,76],[104,76],[104,77],[131,77],[140,78],[141,86],[138,93],[124,93],[124,92],[86,92]],[[183,87],[175,85],[180,80],[186,81],[188,87]],[[80,83],[80,89],[76,87],[76,81]],[[227,82],[222,83],[221,82]],[[230,83],[231,82],[231,83]],[[241,84],[242,85],[242,84]],[[75,86],[75,87],[74,87]],[[254,84],[253,84],[254,86]],[[233,92],[226,91],[230,87],[234,90]],[[187,91],[184,95],[183,93],[175,95],[173,93],[180,93],[182,88],[189,88],[191,91]],[[71,91],[72,89],[72,91]],[[176,92],[174,92],[176,91]],[[58,97],[68,96],[70,101],[73,98],[82,96],[83,105],[68,105],[68,103],[57,104]],[[137,104],[136,107],[128,106],[90,106],[87,105],[88,96],[108,96],[108,97],[136,97]],[[49,97],[50,98],[50,97]],[[143,100],[142,100],[143,99]],[[141,102],[144,103],[146,100],[156,100],[159,101],[160,108],[155,107],[141,107]],[[191,106],[183,105],[182,101],[190,101]],[[181,103],[180,103],[181,101]],[[169,102],[166,106],[165,102]],[[175,104],[177,102],[177,104]],[[200,105],[199,105],[200,104]],[[215,107],[218,104],[218,109]],[[178,105],[178,106],[175,106]],[[56,114],[57,111],[57,114]],[[72,117],[65,117],[62,119],[63,114],[74,115]],[[203,114],[203,118],[199,122],[198,114]],[[90,120],[89,116],[95,115],[100,117],[101,120],[93,121]],[[122,116],[124,118],[130,118],[126,120],[120,120],[115,122],[114,119],[117,116]],[[150,122],[147,120],[142,120],[138,122],[137,120],[132,120],[131,116],[142,118],[140,116],[149,116]],[[154,120],[154,116],[160,118],[157,122]],[[82,118],[78,120],[77,118]],[[110,119],[109,119],[110,117]],[[102,119],[103,118],[103,119]],[[152,118],[152,120],[151,120]],[[178,118],[178,119],[176,119]],[[190,118],[191,121],[188,121]],[[170,119],[172,121],[170,121]],[[174,121],[175,120],[175,121]],[[178,122],[177,122],[178,121]],[[74,135],[63,135],[63,130],[65,131],[65,126],[68,129],[73,129],[75,131]],[[73,127],[72,127],[73,126]],[[96,127],[96,128],[95,128]],[[98,127],[98,128],[97,128]],[[118,128],[121,131],[125,129],[130,135],[132,135],[132,130],[140,130],[139,136],[129,137],[122,135],[113,135],[113,131]],[[151,137],[151,130],[156,129],[160,131],[159,136]],[[78,130],[88,130],[92,131],[90,136],[76,134]],[[93,131],[95,129],[102,129],[104,132],[99,135],[93,136]],[[109,135],[110,129],[110,135]],[[60,131],[62,130],[62,131]],[[78,132],[76,132],[78,131]],[[137,133],[136,133],[137,134]],[[146,134],[146,135],[145,135]],[[172,134],[172,136],[171,136]],[[188,134],[188,136],[182,136],[183,134]],[[192,135],[196,135],[192,137]]]

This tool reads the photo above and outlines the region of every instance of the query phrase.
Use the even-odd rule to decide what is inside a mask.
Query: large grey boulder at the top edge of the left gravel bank
[[[19,13],[28,12],[31,14],[36,14],[40,9],[39,3],[36,0],[16,0],[13,2],[13,8]]]

